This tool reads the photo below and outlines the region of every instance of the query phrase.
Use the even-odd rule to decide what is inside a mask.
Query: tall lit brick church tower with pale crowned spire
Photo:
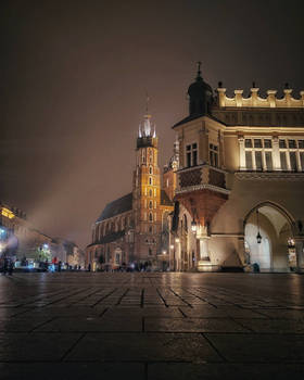
[[[157,140],[155,126],[147,110],[138,131],[132,188],[135,259],[138,263],[153,263],[160,253],[162,215]]]

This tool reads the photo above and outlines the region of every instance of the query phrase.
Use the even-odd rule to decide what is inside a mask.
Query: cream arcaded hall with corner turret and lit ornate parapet
[[[170,267],[303,270],[304,91],[249,97],[198,75],[179,142]]]

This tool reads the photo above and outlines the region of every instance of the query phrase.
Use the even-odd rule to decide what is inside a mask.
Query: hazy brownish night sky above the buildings
[[[131,190],[150,96],[160,162],[187,89],[304,89],[301,1],[1,1],[0,199],[52,237],[90,242],[105,204]]]

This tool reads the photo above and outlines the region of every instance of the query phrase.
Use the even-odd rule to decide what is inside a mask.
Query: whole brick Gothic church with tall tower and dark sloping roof
[[[169,213],[173,212],[172,167],[161,186],[159,148],[151,116],[145,115],[136,145],[132,191],[109,203],[92,226],[86,265],[115,269],[129,265],[165,270],[169,265]]]

